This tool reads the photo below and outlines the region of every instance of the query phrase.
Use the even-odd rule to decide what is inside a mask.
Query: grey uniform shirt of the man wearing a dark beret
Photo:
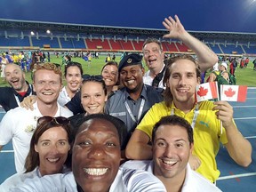
[[[157,91],[155,88],[144,85],[142,92],[140,93],[140,98],[138,100],[132,100],[129,93],[126,91],[126,88],[122,88],[113,93],[113,95],[108,99],[105,111],[111,116],[116,116],[117,118],[124,121],[124,124],[127,126],[129,133],[134,131],[134,128],[137,124],[140,123],[140,120],[148,112],[148,109],[151,108],[155,103],[161,102],[163,97],[161,95],[162,89]],[[144,100],[144,101],[143,101]],[[145,102],[144,104],[142,103]],[[129,108],[132,111],[132,116],[134,116],[136,122],[132,120],[131,114],[125,106],[125,102],[128,104]],[[142,105],[141,105],[142,103]],[[142,108],[140,116],[140,107]],[[140,116],[140,119],[138,119]]]

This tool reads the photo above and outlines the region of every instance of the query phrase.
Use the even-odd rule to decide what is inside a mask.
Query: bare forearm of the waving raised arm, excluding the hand
[[[196,37],[191,36],[185,31],[180,40],[188,46],[190,50],[196,53],[199,66],[202,71],[206,71],[208,68],[218,62],[217,55],[212,52],[212,50],[204,43],[196,39]]]

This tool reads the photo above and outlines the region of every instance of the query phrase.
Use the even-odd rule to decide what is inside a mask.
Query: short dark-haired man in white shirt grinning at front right
[[[122,166],[154,173],[170,192],[220,191],[209,180],[191,170],[188,159],[193,147],[193,129],[188,121],[180,116],[164,116],[153,128],[153,160],[128,161]]]

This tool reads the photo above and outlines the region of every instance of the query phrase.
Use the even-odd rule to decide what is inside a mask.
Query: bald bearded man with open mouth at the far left
[[[20,66],[10,63],[4,68],[6,82],[11,87],[0,87],[0,105],[7,112],[20,106],[20,102],[27,96],[32,95],[33,88],[25,80],[25,74]]]

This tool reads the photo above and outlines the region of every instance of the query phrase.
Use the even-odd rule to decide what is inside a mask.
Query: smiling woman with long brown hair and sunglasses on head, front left
[[[73,142],[71,125],[63,116],[42,116],[37,120],[24,173],[16,173],[5,180],[0,191],[9,191],[28,178],[70,171],[70,145]]]

